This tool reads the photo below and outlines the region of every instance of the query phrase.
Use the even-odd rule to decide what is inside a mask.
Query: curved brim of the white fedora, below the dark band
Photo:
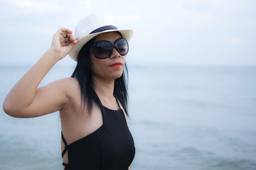
[[[128,42],[131,40],[132,35],[133,35],[133,30],[132,29],[127,29],[127,30],[105,30],[100,33],[93,33],[90,35],[86,35],[85,37],[82,37],[79,39],[78,43],[73,47],[71,52],[69,53],[69,56],[75,61],[78,62],[78,54],[82,47],[92,38],[96,37],[97,35],[100,35],[101,33],[109,33],[109,32],[114,32],[118,31],[119,33],[122,34],[122,37],[126,39]]]

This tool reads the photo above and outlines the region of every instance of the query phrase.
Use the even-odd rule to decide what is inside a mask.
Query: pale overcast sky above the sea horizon
[[[0,63],[33,64],[94,11],[134,29],[128,62],[256,65],[255,0],[0,0]]]

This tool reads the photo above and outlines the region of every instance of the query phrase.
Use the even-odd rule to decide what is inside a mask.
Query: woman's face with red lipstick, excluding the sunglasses
[[[119,38],[121,38],[121,35],[117,32],[102,33],[95,37],[94,42],[108,40],[114,44]],[[125,58],[126,55],[120,55],[116,48],[113,49],[112,55],[106,59],[98,59],[90,52],[92,77],[105,80],[114,80],[121,77]]]

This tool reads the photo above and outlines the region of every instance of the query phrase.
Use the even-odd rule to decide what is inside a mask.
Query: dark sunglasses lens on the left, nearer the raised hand
[[[112,44],[107,41],[97,42],[93,45],[93,53],[97,58],[107,58],[112,54]]]

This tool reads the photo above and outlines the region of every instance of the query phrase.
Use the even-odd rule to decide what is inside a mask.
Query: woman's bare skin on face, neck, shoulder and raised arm
[[[117,32],[102,33],[95,37],[95,42],[109,40],[114,43],[118,38],[120,35]],[[78,40],[79,38],[74,38],[71,30],[60,28],[53,35],[50,49],[11,89],[3,105],[4,111],[16,118],[33,118],[60,111],[61,127],[68,145],[100,128],[100,108],[94,105],[91,117],[86,106],[80,108],[80,88],[76,79],[60,79],[41,88],[38,88],[38,85],[53,65],[68,55]],[[114,79],[121,77],[125,58],[126,56],[119,55],[116,49],[105,60],[97,59],[90,53],[95,91],[102,104],[112,110],[119,108],[113,96]],[[116,62],[121,62],[122,65],[111,67]],[[61,146],[63,150],[63,142]],[[67,153],[63,162],[68,163]]]

